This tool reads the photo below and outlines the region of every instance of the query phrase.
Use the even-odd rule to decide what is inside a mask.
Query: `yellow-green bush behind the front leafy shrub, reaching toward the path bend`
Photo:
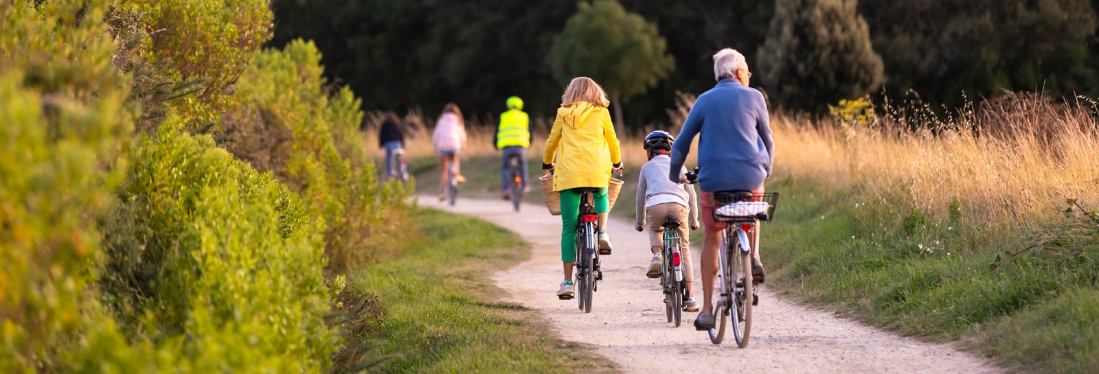
[[[275,172],[323,219],[330,271],[344,273],[399,247],[410,233],[410,190],[376,181],[362,149],[359,101],[346,88],[326,94],[320,60],[302,41],[256,54],[222,127],[235,139],[231,152]]]

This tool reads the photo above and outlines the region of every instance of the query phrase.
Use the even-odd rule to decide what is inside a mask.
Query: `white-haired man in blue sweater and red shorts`
[[[713,76],[718,84],[695,101],[678,141],[671,149],[669,178],[685,181],[684,162],[690,154],[691,140],[698,140],[698,181],[702,189],[701,216],[706,227],[702,245],[702,309],[695,319],[695,328],[713,328],[713,280],[718,273],[718,247],[724,223],[713,219],[718,207],[713,193],[721,191],[752,191],[762,193],[763,182],[770,177],[775,144],[770,139],[770,116],[763,94],[748,88],[752,72],[744,55],[725,48],[713,55]],[[758,225],[750,235],[753,245],[758,238]],[[764,280],[763,264],[752,261],[752,273],[758,282]]]

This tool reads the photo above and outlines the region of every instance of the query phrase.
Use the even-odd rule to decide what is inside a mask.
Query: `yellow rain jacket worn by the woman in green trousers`
[[[554,191],[610,184],[611,165],[622,162],[610,112],[585,101],[558,107],[542,162],[554,156]]]

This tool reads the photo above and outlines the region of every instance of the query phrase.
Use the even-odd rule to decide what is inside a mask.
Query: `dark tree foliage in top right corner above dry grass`
[[[1000,90],[1099,93],[1096,2],[862,0],[888,92],[950,106]]]

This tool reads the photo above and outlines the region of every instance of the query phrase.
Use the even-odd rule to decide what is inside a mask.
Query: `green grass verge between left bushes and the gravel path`
[[[560,340],[526,307],[500,302],[489,273],[530,256],[518,236],[436,209],[418,212],[421,239],[407,256],[370,265],[351,290],[377,295],[384,311],[367,354],[387,373],[613,372],[591,349]]]

